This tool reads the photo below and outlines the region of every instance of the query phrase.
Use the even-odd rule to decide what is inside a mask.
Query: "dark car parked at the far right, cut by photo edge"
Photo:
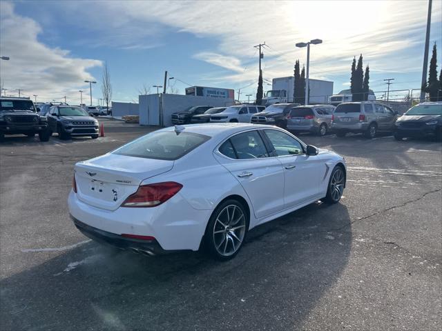
[[[442,102],[423,102],[416,105],[396,121],[394,138],[432,136],[442,140]]]

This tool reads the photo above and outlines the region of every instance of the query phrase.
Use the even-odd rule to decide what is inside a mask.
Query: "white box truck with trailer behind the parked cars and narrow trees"
[[[294,102],[295,77],[273,78],[271,90],[267,91],[262,98],[262,104],[265,106],[275,103]],[[320,79],[309,79],[309,104],[327,103],[329,97],[333,94],[333,82]]]

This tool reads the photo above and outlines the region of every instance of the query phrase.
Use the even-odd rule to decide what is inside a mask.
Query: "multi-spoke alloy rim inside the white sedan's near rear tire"
[[[222,208],[213,225],[213,243],[222,257],[235,254],[242,245],[246,232],[246,217],[237,205]]]

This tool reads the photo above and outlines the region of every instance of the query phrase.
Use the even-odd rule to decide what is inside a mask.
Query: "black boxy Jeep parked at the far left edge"
[[[40,141],[49,140],[48,121],[40,116],[34,103],[24,98],[0,98],[0,140],[5,134],[26,134],[34,137],[39,134]]]

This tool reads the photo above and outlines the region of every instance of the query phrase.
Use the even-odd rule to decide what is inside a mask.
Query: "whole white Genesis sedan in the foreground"
[[[226,260],[256,225],[345,188],[340,155],[273,126],[164,128],[75,165],[70,215],[87,237],[154,255],[204,248]]]

